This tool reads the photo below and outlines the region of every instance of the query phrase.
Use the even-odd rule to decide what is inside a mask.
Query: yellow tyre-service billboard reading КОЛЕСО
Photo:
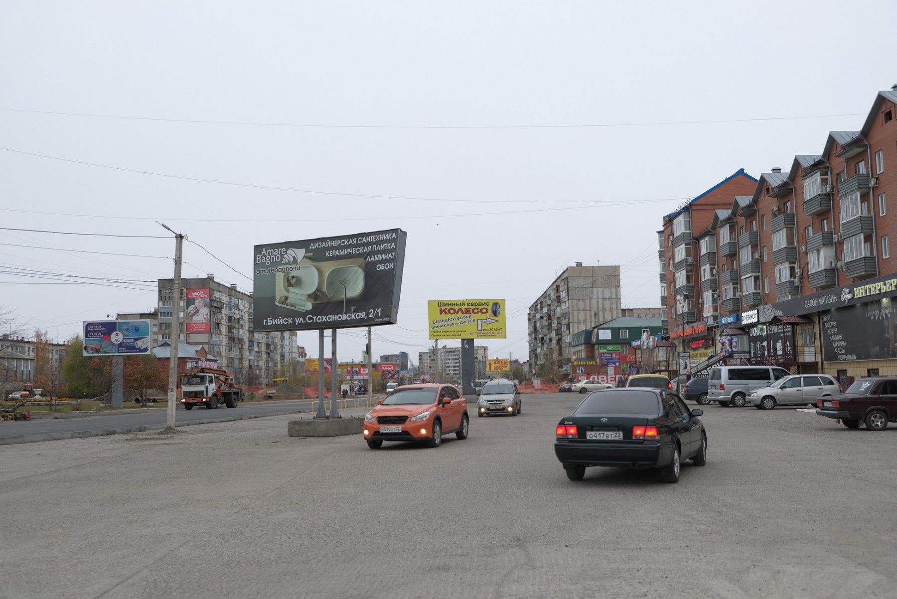
[[[505,339],[504,300],[430,300],[431,339]]]

